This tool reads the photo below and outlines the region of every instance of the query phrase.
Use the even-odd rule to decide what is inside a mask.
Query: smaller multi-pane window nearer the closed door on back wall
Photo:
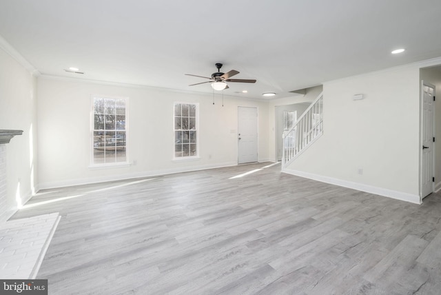
[[[174,157],[198,156],[198,105],[174,104]]]

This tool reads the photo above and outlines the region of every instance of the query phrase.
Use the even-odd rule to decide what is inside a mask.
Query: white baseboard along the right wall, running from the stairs
[[[387,196],[388,198],[397,199],[400,201],[407,201],[410,203],[420,205],[422,203],[420,196],[417,194],[408,194],[406,192],[398,192],[396,190],[389,190],[382,187],[375,187],[372,185],[365,185],[362,183],[354,183],[352,181],[344,181],[342,179],[334,179],[328,176],[322,176],[318,174],[312,174],[308,172],[302,172],[298,170],[283,169],[282,172],[292,174],[305,179],[312,179],[314,181],[320,181],[322,183],[330,183],[341,187],[348,187],[353,190],[360,190],[362,192],[369,192],[370,194],[378,194],[380,196]]]

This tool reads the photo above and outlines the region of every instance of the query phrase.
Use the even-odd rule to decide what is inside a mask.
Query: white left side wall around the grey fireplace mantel
[[[35,78],[0,47],[0,129],[23,130],[6,144],[7,201],[0,222],[37,190],[37,119]]]

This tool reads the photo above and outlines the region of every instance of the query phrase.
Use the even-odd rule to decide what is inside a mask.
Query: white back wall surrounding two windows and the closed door
[[[129,97],[130,167],[90,169],[90,96]],[[258,161],[268,156],[267,101],[160,88],[38,79],[39,180],[42,188],[167,174],[237,164],[238,106],[258,108]],[[173,103],[199,103],[200,155],[172,161]]]

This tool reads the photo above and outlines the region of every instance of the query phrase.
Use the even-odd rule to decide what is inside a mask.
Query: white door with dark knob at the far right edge
[[[421,197],[433,192],[433,96],[435,86],[422,82],[422,116],[421,116],[421,159],[420,179]]]

